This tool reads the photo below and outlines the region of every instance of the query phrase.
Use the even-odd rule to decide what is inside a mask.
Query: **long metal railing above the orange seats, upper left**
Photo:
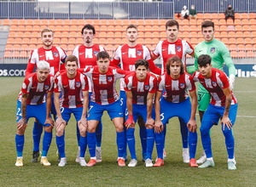
[[[170,19],[173,2],[0,1],[0,19]]]

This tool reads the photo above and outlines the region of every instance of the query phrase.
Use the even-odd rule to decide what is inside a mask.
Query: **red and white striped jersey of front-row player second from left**
[[[77,72],[76,77],[70,79],[67,77],[67,71],[61,73],[55,78],[55,92],[61,93],[60,103],[66,108],[83,107],[83,91],[88,91],[89,85],[87,77]]]

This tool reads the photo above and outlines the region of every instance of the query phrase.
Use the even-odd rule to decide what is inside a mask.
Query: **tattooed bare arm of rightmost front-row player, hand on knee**
[[[227,126],[230,130],[232,127],[232,123],[230,122],[229,113],[230,113],[230,106],[232,102],[232,94],[231,94],[230,88],[223,88],[223,92],[226,97],[226,100],[225,100],[224,115],[222,116],[221,123],[223,124],[223,130],[225,126]]]

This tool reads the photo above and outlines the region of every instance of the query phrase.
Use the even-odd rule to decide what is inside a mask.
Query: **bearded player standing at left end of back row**
[[[67,57],[65,51],[60,47],[55,47],[53,45],[54,35],[53,31],[49,28],[45,28],[41,31],[41,40],[43,42],[43,47],[37,48],[32,51],[32,54],[29,58],[27,67],[26,67],[26,77],[32,74],[35,65],[38,66],[39,60],[45,60],[49,63],[49,74],[55,76],[57,71],[61,69],[65,69],[64,62]],[[51,105],[51,113],[56,115],[55,105],[54,105],[54,96],[52,97],[52,105]],[[32,162],[38,161],[39,156],[39,144],[41,139],[41,134],[43,132],[42,125],[38,124],[35,120],[34,127],[33,127],[33,141],[34,141],[34,148],[33,148],[33,158]]]

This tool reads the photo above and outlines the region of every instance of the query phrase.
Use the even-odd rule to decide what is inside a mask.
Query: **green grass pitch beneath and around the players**
[[[137,167],[118,167],[116,133],[108,114],[102,117],[102,163],[95,167],[80,167],[76,163],[78,144],[74,117],[66,129],[67,167],[57,166],[55,135],[49,148],[49,162],[44,167],[31,163],[32,126],[30,119],[25,133],[24,166],[15,167],[15,111],[17,95],[24,77],[1,77],[0,81],[0,185],[1,186],[256,186],[256,87],[255,78],[236,78],[234,93],[238,99],[238,113],[234,126],[236,140],[236,171],[227,169],[227,152],[220,126],[212,127],[212,153],[215,167],[191,168],[183,163],[182,141],[177,118],[167,125],[164,167],[145,167],[136,128]],[[197,115],[200,127],[199,116]],[[202,151],[198,131],[196,158]],[[55,134],[55,130],[54,130]],[[40,144],[42,148],[42,140]],[[130,155],[128,153],[128,155]],[[156,157],[154,149],[153,158]],[[89,161],[89,153],[85,156]],[[129,158],[130,160],[130,158]]]

